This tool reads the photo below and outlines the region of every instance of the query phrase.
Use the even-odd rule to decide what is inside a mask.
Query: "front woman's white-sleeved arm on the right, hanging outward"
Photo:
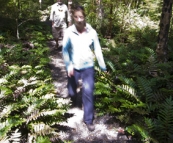
[[[94,53],[96,55],[96,58],[97,58],[97,61],[99,63],[99,66],[100,66],[101,70],[106,71],[106,65],[105,65],[105,62],[104,62],[100,42],[99,42],[99,39],[98,39],[98,36],[97,36],[96,32],[95,32],[95,36],[94,36]]]

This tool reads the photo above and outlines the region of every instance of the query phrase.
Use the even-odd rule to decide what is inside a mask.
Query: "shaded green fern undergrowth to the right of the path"
[[[157,61],[154,29],[125,33],[117,34],[114,42],[100,38],[107,47],[108,73],[96,68],[96,109],[99,115],[114,116],[142,142],[168,142],[172,137],[173,62]]]

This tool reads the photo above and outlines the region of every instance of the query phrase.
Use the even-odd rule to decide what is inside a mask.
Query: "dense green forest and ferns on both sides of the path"
[[[64,0],[68,5],[68,1]],[[1,0],[0,142],[49,143],[69,105],[49,69],[54,0]],[[96,64],[95,107],[145,143],[173,142],[172,0],[73,0],[98,32],[107,73]],[[58,106],[57,106],[58,105]]]

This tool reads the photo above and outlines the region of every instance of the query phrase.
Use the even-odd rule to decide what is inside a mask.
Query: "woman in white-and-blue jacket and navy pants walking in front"
[[[94,54],[101,70],[106,71],[101,46],[96,31],[85,21],[82,6],[72,9],[73,25],[65,31],[62,53],[68,75],[68,94],[76,104],[79,79],[82,80],[82,104],[84,123],[94,131]]]

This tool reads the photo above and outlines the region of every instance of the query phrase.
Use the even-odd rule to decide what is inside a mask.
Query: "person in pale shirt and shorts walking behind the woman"
[[[71,24],[71,16],[64,0],[57,0],[57,3],[51,6],[50,21],[52,21],[52,35],[56,42],[56,48],[59,47],[60,37],[63,39],[64,30]]]

